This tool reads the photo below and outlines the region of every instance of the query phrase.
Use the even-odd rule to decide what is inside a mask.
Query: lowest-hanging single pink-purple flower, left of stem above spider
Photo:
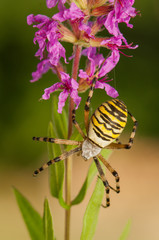
[[[65,106],[69,94],[76,104],[76,109],[78,108],[81,102],[81,97],[78,96],[78,83],[73,78],[70,78],[69,74],[61,72],[61,82],[55,83],[51,87],[46,88],[42,98],[44,100],[49,99],[50,94],[56,90],[63,90],[59,95],[58,113],[62,113],[62,109]]]

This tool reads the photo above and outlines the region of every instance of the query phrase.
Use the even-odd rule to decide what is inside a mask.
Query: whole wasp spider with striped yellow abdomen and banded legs
[[[93,115],[89,120],[89,106],[90,106],[90,101],[93,95],[95,81],[96,80],[94,79],[92,82],[92,86],[90,88],[88,98],[85,104],[85,109],[84,109],[85,128],[86,128],[87,135],[84,134],[79,124],[76,122],[75,109],[72,111],[72,122],[77,128],[77,130],[79,131],[79,133],[82,135],[84,140],[73,141],[73,140],[56,139],[56,138],[48,138],[48,137],[33,137],[33,140],[36,140],[36,141],[44,141],[44,142],[66,144],[66,145],[77,145],[76,148],[68,152],[64,152],[59,157],[56,157],[50,160],[49,162],[45,163],[42,167],[34,171],[34,176],[36,176],[38,173],[43,171],[45,168],[47,168],[51,164],[64,160],[74,153],[81,152],[81,155],[84,159],[88,160],[90,158],[93,158],[96,164],[96,167],[99,172],[99,176],[103,181],[105,191],[106,191],[106,205],[103,207],[108,207],[110,205],[110,199],[109,199],[110,189],[113,189],[117,193],[120,192],[119,176],[118,176],[118,173],[104,159],[104,157],[101,155],[100,152],[103,148],[107,148],[107,149],[131,148],[133,144],[133,139],[135,137],[137,121],[133,117],[133,115],[130,112],[128,112],[125,104],[118,99],[112,99],[100,105],[95,110],[95,112],[93,113]],[[132,133],[130,135],[129,142],[127,144],[122,144],[119,142],[118,137],[120,136],[121,132],[123,131],[126,125],[128,114],[133,120],[134,126],[133,126]],[[116,189],[114,189],[109,185],[99,160],[106,166],[106,168],[115,177]]]

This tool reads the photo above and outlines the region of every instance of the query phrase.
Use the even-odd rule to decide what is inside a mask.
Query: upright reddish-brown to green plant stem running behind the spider
[[[81,56],[81,47],[75,46],[75,57],[72,67],[72,78],[77,81],[77,74],[79,69],[79,61]],[[69,121],[68,121],[68,139],[72,134],[72,110],[74,108],[73,99],[70,98],[69,102]],[[71,205],[71,182],[72,182],[72,159],[66,159],[66,178],[65,178],[65,200],[67,205]],[[65,211],[65,240],[70,239],[70,220],[71,220],[71,208]]]

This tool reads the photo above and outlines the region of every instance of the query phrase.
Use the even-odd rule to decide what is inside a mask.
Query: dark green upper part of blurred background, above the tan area
[[[121,55],[112,76],[111,84],[119,91],[139,121],[138,134],[158,138],[158,39],[159,2],[136,1],[135,7],[141,16],[132,19],[133,29],[122,25],[121,31],[128,42],[139,44],[139,48],[124,51],[132,58]],[[49,87],[55,75],[48,73],[35,83],[30,83],[31,73],[36,70],[37,50],[32,42],[35,29],[28,26],[26,17],[30,13],[52,15],[45,0],[1,1],[0,14],[0,161],[2,165],[27,165],[36,161],[46,151],[43,144],[32,142],[32,136],[47,135],[51,119],[51,101],[40,101],[43,90]],[[70,54],[70,53],[69,53]],[[69,55],[68,54],[68,55]],[[102,93],[102,94],[101,94]],[[87,93],[86,93],[87,94]],[[83,102],[86,99],[83,96]],[[92,101],[93,110],[107,96],[96,91]],[[82,106],[81,105],[81,109]],[[77,112],[78,116],[78,112]],[[79,116],[81,123],[83,116]]]

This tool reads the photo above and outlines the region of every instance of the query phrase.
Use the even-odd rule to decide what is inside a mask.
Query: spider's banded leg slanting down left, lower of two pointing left
[[[59,162],[61,160],[64,160],[64,159],[68,158],[69,156],[71,156],[72,154],[79,152],[79,151],[81,151],[81,147],[74,148],[74,149],[70,150],[69,152],[65,152],[65,153],[61,154],[59,157],[56,157],[56,158],[48,161],[42,167],[35,170],[33,176],[35,177],[38,173],[40,173],[41,171],[43,171],[45,168],[49,167],[50,165],[52,165],[56,162]]]

